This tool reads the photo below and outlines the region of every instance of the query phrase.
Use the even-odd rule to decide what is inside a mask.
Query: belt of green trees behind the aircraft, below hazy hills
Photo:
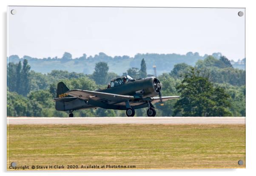
[[[147,74],[145,59],[140,68],[129,68],[123,74],[138,79]],[[98,62],[92,74],[54,70],[47,74],[30,71],[27,60],[8,64],[8,115],[9,116],[60,116],[67,113],[55,110],[57,83],[65,82],[68,88],[94,91],[105,88],[118,75],[109,72],[108,63]],[[222,73],[225,73],[223,77]],[[178,100],[156,104],[159,116],[245,116],[245,71],[233,68],[224,56],[208,56],[196,66],[179,63],[169,73],[158,76],[162,82],[162,96],[179,95]],[[136,110],[144,116],[146,109]],[[125,116],[124,111],[102,108],[74,111],[76,116]]]

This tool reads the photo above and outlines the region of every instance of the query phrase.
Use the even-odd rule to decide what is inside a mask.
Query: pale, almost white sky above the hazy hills
[[[17,14],[11,15],[15,9]],[[8,8],[8,55],[222,52],[245,57],[244,8]]]

